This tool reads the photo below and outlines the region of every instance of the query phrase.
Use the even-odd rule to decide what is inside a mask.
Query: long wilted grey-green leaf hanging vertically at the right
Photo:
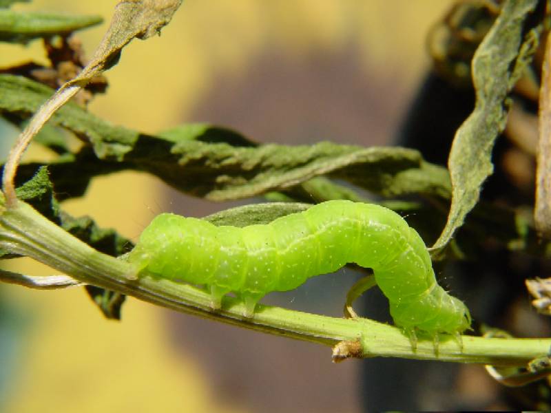
[[[537,36],[525,27],[537,0],[508,0],[472,60],[475,110],[457,130],[448,167],[453,186],[448,222],[433,248],[448,244],[479,200],[481,186],[492,174],[492,148],[505,128],[506,98],[530,63]],[[538,21],[537,30],[541,30]],[[528,34],[524,36],[524,33]]]

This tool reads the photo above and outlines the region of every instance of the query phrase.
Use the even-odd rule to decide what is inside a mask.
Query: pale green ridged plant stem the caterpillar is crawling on
[[[274,335],[335,346],[335,359],[347,357],[404,357],[494,366],[525,366],[548,354],[551,339],[440,337],[435,351],[432,339],[419,337],[414,350],[401,330],[370,319],[339,319],[258,306],[254,317],[242,317],[244,308],[227,297],[220,311],[209,308],[205,291],[165,279],[130,279],[134,268],[98,253],[50,222],[23,201],[7,209],[0,198],[0,247],[32,257],[86,284],[118,291],[159,306],[199,315]]]

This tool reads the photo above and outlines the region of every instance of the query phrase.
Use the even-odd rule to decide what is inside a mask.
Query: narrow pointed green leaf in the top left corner
[[[9,6],[8,0],[0,7]],[[101,23],[100,16],[70,16],[44,12],[15,12],[0,8],[0,41],[26,43],[54,34],[69,34]]]

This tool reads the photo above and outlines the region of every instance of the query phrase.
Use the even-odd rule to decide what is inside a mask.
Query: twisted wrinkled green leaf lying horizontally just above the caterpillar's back
[[[449,178],[444,168],[427,167],[419,152],[399,147],[363,148],[319,142],[314,145],[232,147],[179,142],[171,153],[178,166],[166,182],[209,200],[247,198],[281,191],[321,175],[348,180],[384,196],[424,193],[446,196]],[[148,171],[160,176],[156,157]]]

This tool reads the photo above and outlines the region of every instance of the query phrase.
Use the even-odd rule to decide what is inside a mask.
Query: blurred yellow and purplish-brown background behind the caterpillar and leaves
[[[90,56],[115,4],[34,0],[14,8],[101,14],[103,25],[78,34]],[[295,142],[307,122],[313,129],[304,142],[342,138],[382,144],[395,133],[393,127],[428,67],[426,32],[449,5],[441,0],[187,0],[161,36],[134,40],[125,48],[120,63],[106,72],[107,93],[97,96],[90,110],[148,133],[207,120],[261,142]],[[2,66],[31,59],[45,63],[39,41],[28,47],[0,45]],[[286,84],[292,87],[282,87]],[[303,98],[304,105],[315,105],[292,118],[297,111],[285,107]],[[344,129],[335,126],[327,133],[328,118],[349,119],[352,112],[350,122],[341,122]],[[318,134],[318,124],[325,134]],[[72,215],[92,215],[101,226],[134,240],[160,211],[205,215],[221,208],[177,195],[138,173],[96,178],[85,198],[63,203]],[[52,273],[29,260],[17,260],[10,270]],[[360,362],[332,365],[327,348],[306,343],[288,347],[288,340],[227,326],[199,333],[205,321],[136,299],[127,299],[121,322],[107,321],[80,288],[45,292],[1,286],[0,293],[3,307],[21,321],[10,379],[0,392],[5,412],[362,409],[356,382]],[[173,328],[183,332],[176,335]],[[194,337],[212,337],[218,347],[203,352],[207,343],[189,344]],[[239,352],[243,340],[254,342],[247,351],[261,357],[247,357],[243,350],[240,364],[225,370],[225,351],[236,346],[233,351]],[[274,348],[262,350],[272,343]],[[264,368],[252,366],[269,357],[273,361]],[[310,361],[299,372],[301,359]],[[271,381],[279,370],[293,368],[295,376],[285,373],[277,383]]]

